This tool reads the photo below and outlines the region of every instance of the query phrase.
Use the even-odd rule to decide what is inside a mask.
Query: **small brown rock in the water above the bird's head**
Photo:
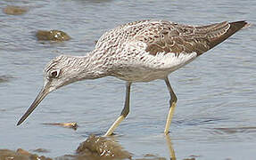
[[[70,40],[70,36],[61,30],[38,30],[36,36],[38,41],[62,42]]]

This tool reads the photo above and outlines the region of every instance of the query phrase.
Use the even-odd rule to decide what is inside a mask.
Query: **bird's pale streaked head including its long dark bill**
[[[78,81],[77,75],[79,68],[74,68],[76,64],[75,57],[61,55],[51,60],[45,68],[45,83],[41,91],[37,94],[36,100],[33,101],[27,112],[21,117],[17,125],[21,124],[37,105],[44,100],[45,96],[54,90]]]

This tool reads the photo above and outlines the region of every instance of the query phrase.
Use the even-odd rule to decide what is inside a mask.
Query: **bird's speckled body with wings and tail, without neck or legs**
[[[103,51],[102,57],[111,60],[116,76],[132,76],[137,72],[137,81],[150,81],[186,65],[246,24],[245,21],[224,21],[194,27],[166,20],[135,21],[106,32],[95,50]],[[148,78],[153,72],[156,75]],[[147,78],[137,77],[143,73],[149,74]]]

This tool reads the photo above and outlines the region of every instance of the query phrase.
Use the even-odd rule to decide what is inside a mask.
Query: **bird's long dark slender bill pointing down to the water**
[[[42,90],[38,93],[36,100],[33,101],[27,112],[21,117],[17,125],[20,125],[32,112],[37,108],[38,104],[44,100],[45,96],[49,93],[49,87],[45,85]]]

